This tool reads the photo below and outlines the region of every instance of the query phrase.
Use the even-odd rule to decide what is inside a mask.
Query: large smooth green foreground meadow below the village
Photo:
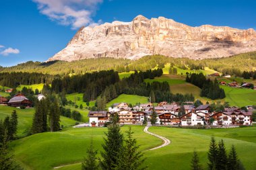
[[[127,128],[123,126],[121,130],[124,132]],[[143,126],[132,126],[132,130],[147,158],[149,169],[190,169],[194,150],[198,152],[204,169],[207,169],[207,151],[212,136],[216,140],[223,139],[227,150],[234,144],[245,168],[256,169],[256,127],[210,130],[151,127],[150,132],[171,140],[170,145],[153,151],[145,150],[158,146],[162,141],[144,133]],[[86,156],[91,139],[95,148],[102,151],[104,132],[106,128],[67,128],[62,132],[46,132],[16,140],[11,142],[11,148],[15,151],[15,158],[26,169],[53,169],[59,165],[72,164],[60,169],[78,170],[81,169],[79,162]]]

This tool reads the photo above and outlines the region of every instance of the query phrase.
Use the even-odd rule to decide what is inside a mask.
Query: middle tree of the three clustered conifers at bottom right
[[[226,155],[226,148],[223,140],[220,140],[218,143],[218,157],[217,157],[217,164],[216,169],[217,170],[226,170],[226,163],[228,161],[227,155]]]

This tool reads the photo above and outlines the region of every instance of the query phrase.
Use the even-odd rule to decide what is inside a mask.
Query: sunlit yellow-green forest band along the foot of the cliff
[[[32,62],[28,61],[13,67],[0,67],[0,72],[29,72],[44,73],[51,75],[69,75],[88,73],[93,71],[110,70],[118,71],[146,71],[162,69],[166,63],[181,69],[203,69],[209,67],[224,75],[241,77],[244,71],[253,71],[256,67],[256,52],[247,52],[227,58],[212,58],[203,60],[191,60],[189,58],[172,58],[168,56],[152,55],[144,56],[139,60],[123,58],[89,58],[73,62],[51,61]],[[255,74],[253,74],[255,75]],[[252,75],[252,76],[253,76]]]

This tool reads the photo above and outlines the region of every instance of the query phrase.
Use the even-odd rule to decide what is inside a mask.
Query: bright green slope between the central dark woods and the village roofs
[[[113,103],[121,103],[121,102],[126,102],[126,103],[131,103],[132,105],[135,105],[135,103],[147,103],[148,102],[148,97],[144,96],[139,96],[139,95],[125,95],[121,94],[119,97],[113,99],[109,103],[106,104],[106,107],[109,108]]]

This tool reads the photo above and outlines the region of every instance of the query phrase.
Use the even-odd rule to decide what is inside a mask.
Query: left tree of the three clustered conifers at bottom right
[[[218,146],[216,144],[216,140],[214,137],[212,137],[212,140],[210,142],[210,149],[208,151],[208,167],[210,170],[216,169],[216,163],[217,163],[217,157],[218,157]]]

